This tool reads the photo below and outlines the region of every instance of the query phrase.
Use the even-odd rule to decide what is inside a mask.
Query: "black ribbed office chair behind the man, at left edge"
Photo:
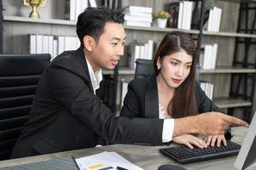
[[[0,160],[9,159],[49,60],[49,54],[0,54]]]

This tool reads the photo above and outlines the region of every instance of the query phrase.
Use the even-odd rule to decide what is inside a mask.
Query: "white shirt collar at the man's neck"
[[[93,71],[90,65],[90,62],[88,61],[88,59],[86,58],[86,63],[88,66],[88,71],[90,74],[90,82],[93,88],[93,92],[94,94],[96,94],[96,89],[100,88],[100,83],[102,82],[102,69],[100,69],[99,71]]]

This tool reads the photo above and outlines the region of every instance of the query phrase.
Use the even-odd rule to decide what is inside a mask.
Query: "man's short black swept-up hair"
[[[79,14],[77,22],[77,34],[81,46],[84,47],[83,39],[86,35],[93,37],[98,42],[106,22],[123,24],[124,15],[118,10],[107,7],[86,8],[83,13]]]

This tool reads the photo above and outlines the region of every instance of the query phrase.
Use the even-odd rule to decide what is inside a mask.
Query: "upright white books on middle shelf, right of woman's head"
[[[215,69],[218,54],[218,44],[207,44],[201,46],[200,65],[202,69]]]

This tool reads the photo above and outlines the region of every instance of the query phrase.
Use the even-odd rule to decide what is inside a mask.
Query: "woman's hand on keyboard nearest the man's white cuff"
[[[183,134],[181,136],[177,136],[172,139],[173,142],[177,144],[185,144],[187,145],[190,149],[193,149],[193,145],[199,147],[199,148],[207,148],[207,143],[203,141],[200,138],[197,138],[191,134]]]

